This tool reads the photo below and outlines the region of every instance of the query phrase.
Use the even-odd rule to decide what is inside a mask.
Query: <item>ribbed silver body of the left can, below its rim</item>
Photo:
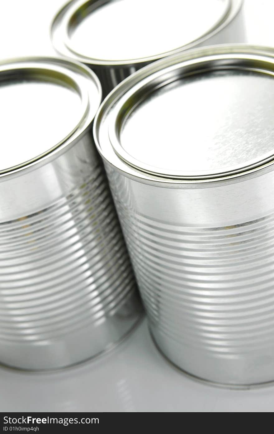
[[[6,174],[0,203],[0,363],[61,368],[127,335],[140,301],[91,125]]]

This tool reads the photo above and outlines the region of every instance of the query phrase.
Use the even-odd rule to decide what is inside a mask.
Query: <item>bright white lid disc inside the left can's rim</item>
[[[45,99],[46,104],[41,106],[39,102]],[[5,152],[1,153],[2,171],[36,158],[61,141],[69,134],[71,125],[77,125],[81,108],[81,99],[75,92],[51,83],[17,82],[10,85],[8,82],[0,87],[0,100],[1,140],[5,144]],[[49,111],[49,103],[53,100],[56,104]],[[60,116],[63,110],[65,114]],[[14,128],[14,119],[17,128]],[[45,128],[45,121],[52,128]],[[28,137],[23,146],[22,136]]]

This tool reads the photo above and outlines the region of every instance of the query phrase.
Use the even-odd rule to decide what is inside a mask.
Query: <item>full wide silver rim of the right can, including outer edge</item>
[[[95,116],[94,123],[94,138],[96,147],[104,158],[111,166],[116,170],[121,171],[125,176],[133,179],[137,179],[140,182],[148,184],[163,184],[163,186],[173,186],[175,184],[178,187],[183,185],[193,188],[196,185],[203,185],[204,187],[213,186],[212,183],[217,182],[238,182],[244,180],[246,177],[258,176],[258,171],[270,171],[273,170],[274,164],[274,152],[271,155],[260,161],[254,161],[254,164],[249,164],[247,167],[238,168],[238,170],[228,170],[224,173],[206,174],[206,176],[182,176],[182,174],[174,174],[171,171],[163,173],[163,171],[157,170],[157,168],[146,167],[142,164],[140,167],[140,161],[134,161],[134,158],[128,158],[126,152],[121,150],[121,144],[117,139],[117,122],[116,117],[123,110],[123,104],[130,97],[130,92],[136,92],[138,86],[141,87],[142,83],[150,81],[151,77],[154,79],[161,75],[161,72],[166,69],[172,70],[172,68],[178,64],[184,63],[193,65],[202,57],[207,59],[216,55],[225,55],[234,57],[244,56],[250,58],[253,62],[256,59],[264,60],[266,63],[270,63],[274,67],[274,49],[264,46],[252,46],[243,44],[225,44],[219,46],[210,46],[206,48],[196,48],[189,50],[188,52],[182,52],[180,54],[164,58],[158,62],[154,62],[151,65],[135,72],[133,75],[125,79],[118,85],[101,104],[100,109]],[[136,87],[135,87],[136,86]],[[131,89],[131,91],[130,91]],[[132,95],[131,95],[132,96]],[[112,122],[112,124],[111,124]],[[111,129],[109,126],[111,125]],[[102,145],[101,136],[104,137],[104,143]],[[209,185],[210,184],[210,185]]]

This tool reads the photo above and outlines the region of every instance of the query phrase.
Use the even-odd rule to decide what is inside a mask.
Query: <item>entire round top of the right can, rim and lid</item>
[[[98,150],[127,174],[160,182],[223,179],[273,164],[273,53],[215,46],[143,68],[101,105]]]

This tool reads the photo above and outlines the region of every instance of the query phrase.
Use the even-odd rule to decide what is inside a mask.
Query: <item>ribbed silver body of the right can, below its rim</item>
[[[273,174],[201,190],[108,176],[160,350],[209,381],[273,380]]]

